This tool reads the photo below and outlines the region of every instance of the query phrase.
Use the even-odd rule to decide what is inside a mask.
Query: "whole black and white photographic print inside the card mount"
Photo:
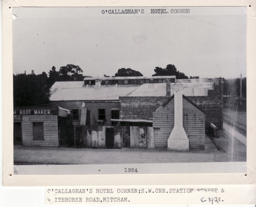
[[[12,8],[12,66],[20,174],[246,165],[242,7]]]

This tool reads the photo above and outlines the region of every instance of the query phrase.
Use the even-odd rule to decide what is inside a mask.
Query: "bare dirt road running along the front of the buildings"
[[[219,138],[223,150],[217,150],[206,136],[205,150],[167,151],[167,148],[93,149],[14,146],[14,164],[126,164],[126,163],[200,163],[231,161],[230,139]],[[235,145],[233,161],[246,161],[246,147]]]

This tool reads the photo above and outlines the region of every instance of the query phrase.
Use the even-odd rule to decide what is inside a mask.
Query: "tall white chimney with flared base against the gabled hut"
[[[174,93],[174,127],[167,141],[168,150],[188,151],[189,140],[183,128],[183,85],[176,83],[173,86]]]

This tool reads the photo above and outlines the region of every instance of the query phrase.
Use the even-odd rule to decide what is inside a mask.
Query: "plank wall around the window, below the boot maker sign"
[[[22,118],[23,145],[59,146],[58,117],[56,115],[23,115]],[[33,122],[43,122],[44,140],[33,139]]]

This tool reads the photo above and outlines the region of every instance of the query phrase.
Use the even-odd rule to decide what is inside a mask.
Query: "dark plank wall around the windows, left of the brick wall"
[[[73,121],[73,125],[80,125],[81,109],[84,101],[53,101],[50,103],[52,106],[60,106],[65,109],[78,109],[79,121]],[[98,120],[98,109],[105,109],[106,122],[105,125],[111,125],[111,110],[119,109],[119,102],[86,102],[87,110],[90,111],[90,123],[95,125],[95,121]]]

